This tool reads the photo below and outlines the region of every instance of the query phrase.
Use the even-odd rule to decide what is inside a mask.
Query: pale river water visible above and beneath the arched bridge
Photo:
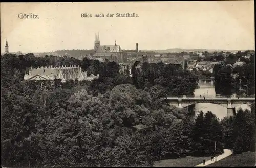
[[[203,83],[203,82],[201,82]],[[199,89],[196,89],[194,92],[195,97],[200,97],[200,95],[205,95],[205,97],[215,97],[215,89],[214,86],[210,85],[210,83],[203,83],[199,85]],[[239,110],[239,108],[242,109],[248,109],[251,110],[249,105],[241,105],[236,107],[236,111]],[[198,115],[199,111],[203,111],[206,113],[207,111],[211,111],[213,114],[215,114],[219,119],[223,119],[227,115],[227,108],[223,107],[221,105],[217,104],[211,104],[211,103],[198,103],[195,104],[195,117]]]

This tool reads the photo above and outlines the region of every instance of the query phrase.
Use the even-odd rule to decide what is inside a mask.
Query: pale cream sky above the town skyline
[[[93,49],[254,50],[254,1],[1,3],[1,53]],[[33,13],[39,19],[20,19]],[[104,14],[82,18],[81,13]],[[106,14],[115,14],[113,18]],[[139,17],[117,18],[116,13]]]

